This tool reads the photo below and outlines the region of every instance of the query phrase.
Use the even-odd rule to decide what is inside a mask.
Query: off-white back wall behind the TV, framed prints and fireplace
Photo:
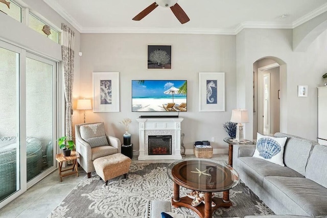
[[[193,149],[194,141],[212,137],[216,138],[212,142],[214,149],[228,148],[223,141],[228,135],[222,125],[230,120],[231,110],[236,107],[235,40],[235,36],[227,35],[81,34],[81,98],[92,99],[92,71],[120,72],[121,112],[89,110],[86,122],[103,121],[107,132],[122,140],[124,127],[119,122],[132,118],[129,132],[134,150],[138,150],[135,119],[160,113],[131,112],[131,80],[188,80],[188,111],[179,114],[184,118],[181,132],[185,134],[186,149]],[[172,70],[147,70],[148,44],[172,45]],[[225,72],[225,112],[199,112],[198,72]]]

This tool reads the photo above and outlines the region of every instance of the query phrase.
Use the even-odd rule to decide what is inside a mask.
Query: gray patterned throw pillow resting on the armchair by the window
[[[83,125],[80,127],[80,134],[91,148],[109,145],[104,123]]]

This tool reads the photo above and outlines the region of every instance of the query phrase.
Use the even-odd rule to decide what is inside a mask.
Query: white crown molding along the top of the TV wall
[[[224,29],[180,29],[180,28],[83,28],[81,33],[166,33],[166,34],[211,34],[235,35],[234,30]]]

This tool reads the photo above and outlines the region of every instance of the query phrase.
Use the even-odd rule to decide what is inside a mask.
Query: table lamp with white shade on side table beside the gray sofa
[[[242,123],[249,123],[247,110],[234,109],[231,112],[230,122],[237,123],[235,141],[244,141]]]

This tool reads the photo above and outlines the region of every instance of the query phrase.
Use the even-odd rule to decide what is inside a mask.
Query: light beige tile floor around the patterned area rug
[[[186,155],[185,158],[192,158],[194,155]],[[215,160],[228,160],[227,154],[213,155]],[[170,160],[138,161],[133,156],[133,162],[172,162]],[[24,194],[0,209],[0,217],[33,217],[45,218],[60,202],[73,190],[73,188],[86,177],[81,167],[78,169],[79,177],[71,175],[59,180],[58,169],[29,188]]]

